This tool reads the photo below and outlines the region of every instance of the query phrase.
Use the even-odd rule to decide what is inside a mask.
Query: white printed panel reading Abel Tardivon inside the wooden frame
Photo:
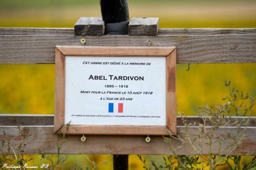
[[[65,57],[65,124],[166,125],[166,57]]]

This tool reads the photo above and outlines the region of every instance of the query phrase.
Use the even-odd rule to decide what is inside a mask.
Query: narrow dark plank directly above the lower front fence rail
[[[203,120],[198,116],[184,116],[184,120],[187,124],[190,123],[203,123]],[[0,125],[2,126],[45,126],[53,125],[54,115],[45,115],[45,114],[0,114]],[[241,121],[245,117],[232,117],[232,119],[238,119]],[[177,125],[182,126],[181,117],[177,116]],[[249,127],[256,126],[256,117],[250,117]]]

